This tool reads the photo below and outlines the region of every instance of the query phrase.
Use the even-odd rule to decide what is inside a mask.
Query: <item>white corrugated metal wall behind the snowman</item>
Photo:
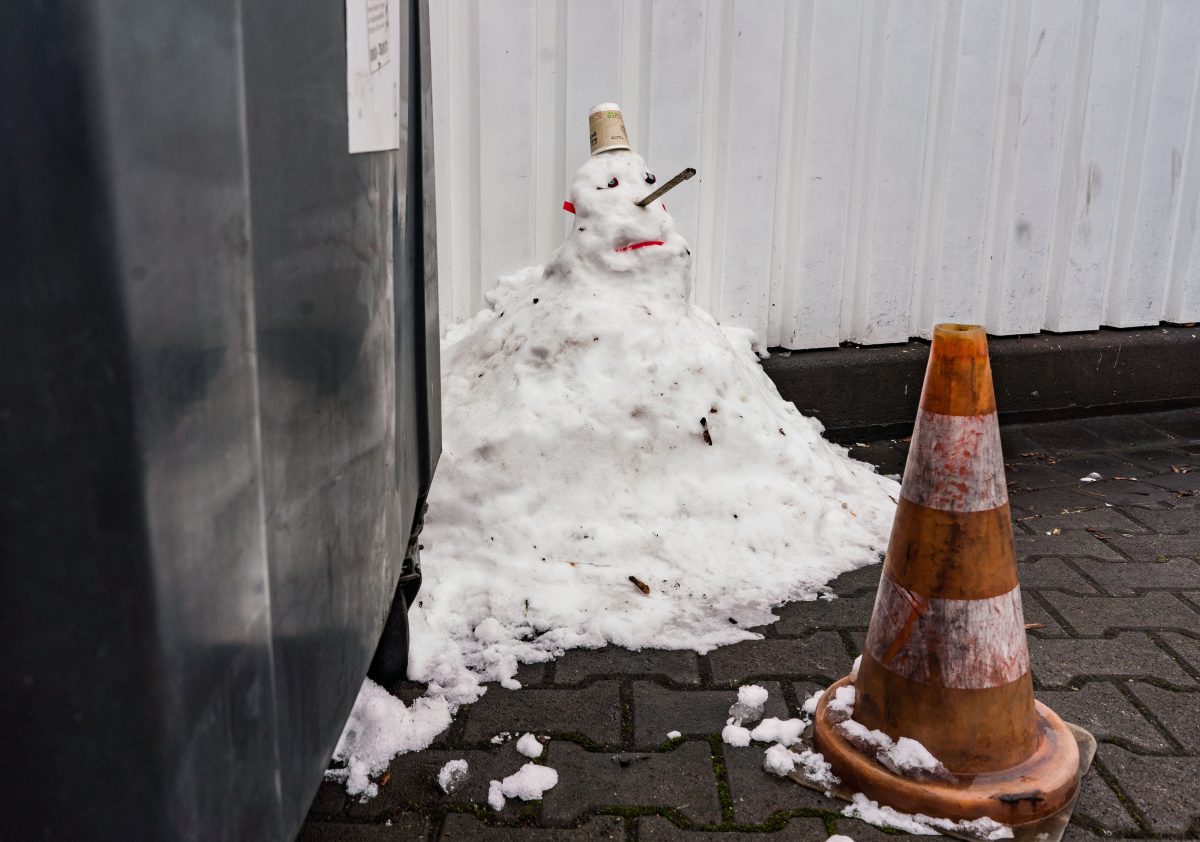
[[[1200,320],[1200,0],[430,5],[444,325],[562,241],[610,100],[772,345]]]

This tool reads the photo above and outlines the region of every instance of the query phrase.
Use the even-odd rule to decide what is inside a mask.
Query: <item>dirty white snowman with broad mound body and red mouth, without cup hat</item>
[[[689,302],[664,185],[619,146],[575,175],[545,266],[502,278],[443,349],[410,663],[451,708],[571,648],[756,637],[887,543],[896,483]]]

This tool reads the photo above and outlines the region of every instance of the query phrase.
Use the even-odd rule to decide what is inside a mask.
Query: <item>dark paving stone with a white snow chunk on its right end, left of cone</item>
[[[787,703],[778,681],[763,681],[767,704],[763,716],[787,718]],[[684,736],[720,734],[737,702],[737,690],[671,690],[653,681],[634,682],[634,742],[655,748],[678,730]]]

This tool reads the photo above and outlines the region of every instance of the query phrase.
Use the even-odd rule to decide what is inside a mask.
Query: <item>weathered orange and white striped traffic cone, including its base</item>
[[[982,327],[934,329],[900,494],[857,678],[822,697],[815,748],[851,792],[902,812],[1009,825],[1051,816],[1075,795],[1080,754],[1033,699]],[[853,720],[918,740],[943,769],[901,775],[856,748],[827,716],[851,681]]]

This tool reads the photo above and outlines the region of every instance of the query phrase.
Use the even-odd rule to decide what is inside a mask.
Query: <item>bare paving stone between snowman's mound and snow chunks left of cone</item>
[[[718,682],[744,682],[766,675],[832,681],[846,674],[851,660],[841,638],[832,631],[803,638],[745,640],[708,654],[713,680]]]

